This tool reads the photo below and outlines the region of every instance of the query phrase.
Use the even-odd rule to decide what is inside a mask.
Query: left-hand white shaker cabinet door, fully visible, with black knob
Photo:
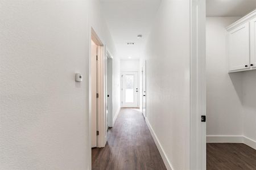
[[[229,71],[250,68],[249,22],[229,32]]]

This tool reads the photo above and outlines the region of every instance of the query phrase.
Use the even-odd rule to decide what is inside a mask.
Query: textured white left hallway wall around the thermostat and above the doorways
[[[1,1],[0,169],[90,169],[91,25],[114,56],[120,107],[119,59],[101,11],[95,0]]]

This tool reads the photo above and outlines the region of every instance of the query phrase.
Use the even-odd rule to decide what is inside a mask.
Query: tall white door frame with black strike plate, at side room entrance
[[[189,169],[206,169],[205,0],[190,0],[190,139]]]

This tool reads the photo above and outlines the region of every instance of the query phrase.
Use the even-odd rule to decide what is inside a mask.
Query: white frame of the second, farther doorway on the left
[[[112,62],[112,67],[110,68],[110,70],[111,70],[111,72],[112,72],[112,80],[111,80],[111,88],[110,88],[110,92],[109,92],[109,94],[110,94],[110,112],[108,113],[108,115],[109,115],[109,122],[106,122],[106,124],[108,125],[107,126],[107,130],[108,130],[108,127],[110,127],[110,128],[112,128],[113,127],[113,55],[109,52],[109,50],[108,50],[108,48],[106,47],[106,59],[105,59],[105,61],[106,61],[106,63],[105,63],[105,65],[106,65],[106,70],[105,70],[105,77],[106,77],[106,92],[108,92],[108,90],[107,90],[107,87],[108,87],[108,80],[107,80],[107,78],[108,78],[108,59],[110,59],[110,61]],[[107,96],[108,94],[106,94],[106,101],[108,101],[108,96]],[[108,103],[106,104],[106,111],[107,111],[107,107],[108,107]],[[106,121],[108,120],[108,118],[106,118]]]

